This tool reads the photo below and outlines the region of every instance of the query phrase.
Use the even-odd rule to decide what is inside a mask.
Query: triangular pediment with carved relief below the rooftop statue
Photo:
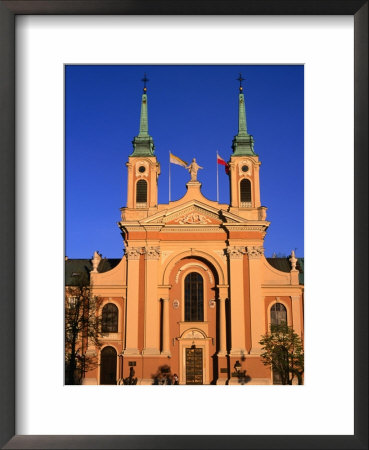
[[[175,208],[160,211],[152,216],[140,220],[140,224],[163,225],[220,225],[222,223],[245,223],[242,217],[198,200],[192,200]]]

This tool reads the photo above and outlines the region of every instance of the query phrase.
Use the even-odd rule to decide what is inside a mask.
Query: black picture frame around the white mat
[[[19,14],[352,15],[354,17],[354,435],[15,435],[15,17]],[[11,0],[0,1],[0,445],[25,448],[368,448],[368,1]],[[345,249],[342,249],[344,257]],[[339,361],[334,364],[340,376]],[[342,381],[344,382],[344,380]],[[339,392],[337,392],[339,401]],[[317,405],[318,407],[318,405]]]

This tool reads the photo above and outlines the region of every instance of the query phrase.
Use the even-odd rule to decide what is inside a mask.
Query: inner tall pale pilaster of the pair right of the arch
[[[229,286],[231,302],[231,356],[242,356],[246,353],[245,313],[243,292],[243,255],[245,247],[228,247]]]

